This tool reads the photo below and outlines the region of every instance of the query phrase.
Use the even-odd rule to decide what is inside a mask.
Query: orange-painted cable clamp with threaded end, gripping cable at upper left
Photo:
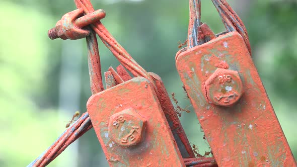
[[[97,10],[88,15],[85,15],[82,9],[65,14],[61,20],[56,24],[56,27],[48,31],[48,37],[50,39],[81,39],[89,36],[88,30],[82,29],[85,26],[98,22],[105,17],[104,10]]]

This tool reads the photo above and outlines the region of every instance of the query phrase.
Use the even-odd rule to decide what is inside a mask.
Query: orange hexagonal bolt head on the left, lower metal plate
[[[146,120],[134,109],[126,109],[110,117],[108,133],[112,141],[129,147],[142,141],[145,125]]]

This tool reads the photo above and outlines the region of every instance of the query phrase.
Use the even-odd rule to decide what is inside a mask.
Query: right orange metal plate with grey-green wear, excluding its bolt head
[[[238,32],[182,52],[176,66],[219,166],[296,166]],[[238,71],[242,80],[244,94],[232,107],[216,106],[206,98],[205,81],[217,68]]]

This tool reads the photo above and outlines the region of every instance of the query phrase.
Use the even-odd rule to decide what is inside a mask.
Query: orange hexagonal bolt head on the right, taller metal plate
[[[243,94],[239,73],[218,68],[205,81],[206,98],[214,105],[231,107]]]

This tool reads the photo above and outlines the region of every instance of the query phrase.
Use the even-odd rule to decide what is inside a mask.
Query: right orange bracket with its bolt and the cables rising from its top
[[[200,22],[200,0],[189,2],[190,43],[176,67],[218,166],[296,166],[241,19],[225,0],[212,0],[229,32],[215,35]]]

